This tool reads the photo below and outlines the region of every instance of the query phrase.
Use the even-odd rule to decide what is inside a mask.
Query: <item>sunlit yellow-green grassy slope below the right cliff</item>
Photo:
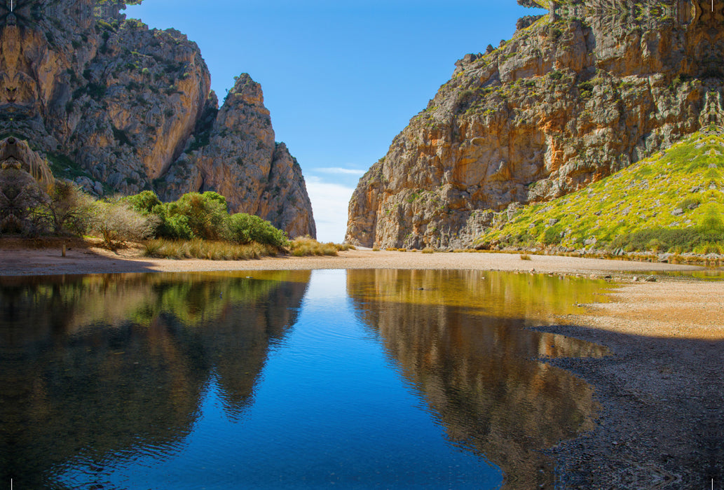
[[[477,241],[626,252],[724,252],[724,138],[695,133],[564,197],[521,208]]]

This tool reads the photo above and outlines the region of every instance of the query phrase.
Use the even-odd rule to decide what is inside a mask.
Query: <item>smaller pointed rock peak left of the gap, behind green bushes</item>
[[[238,212],[261,216],[292,236],[315,236],[311,212],[298,212],[311,210],[301,168],[286,145],[274,141],[261,86],[242,74],[218,113],[208,114],[214,107],[212,100],[211,127],[200,128],[198,140],[157,184],[161,197],[215,190]],[[208,144],[193,150],[203,139]]]

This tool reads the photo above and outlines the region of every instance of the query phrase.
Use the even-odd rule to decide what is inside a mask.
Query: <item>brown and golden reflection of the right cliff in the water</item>
[[[348,293],[452,442],[500,465],[506,488],[550,488],[539,450],[591,429],[597,403],[587,384],[531,358],[605,348],[521,327],[592,301],[601,285],[484,274],[350,270]]]

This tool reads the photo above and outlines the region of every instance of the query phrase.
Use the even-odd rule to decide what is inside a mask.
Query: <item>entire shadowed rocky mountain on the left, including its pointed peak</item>
[[[314,236],[300,167],[275,142],[261,87],[243,74],[219,108],[198,46],[125,19],[130,3],[140,2],[0,5],[0,137],[27,140],[88,192],[214,190],[232,212]]]

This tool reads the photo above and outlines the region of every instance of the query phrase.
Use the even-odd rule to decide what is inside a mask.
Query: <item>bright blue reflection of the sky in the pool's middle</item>
[[[313,272],[298,321],[271,348],[242,413],[224,408],[212,380],[174,454],[79,465],[62,480],[134,489],[500,486],[500,470],[445,438],[355,318],[346,280],[344,271]]]

